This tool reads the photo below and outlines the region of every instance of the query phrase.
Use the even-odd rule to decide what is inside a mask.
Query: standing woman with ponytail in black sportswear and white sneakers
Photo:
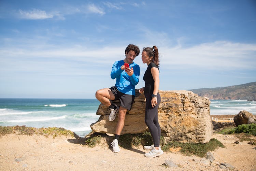
[[[158,105],[161,97],[158,93],[159,88],[159,54],[156,46],[144,47],[141,55],[143,63],[147,64],[147,70],[143,76],[145,87],[140,89],[140,93],[144,92],[146,98],[145,123],[150,130],[154,145],[144,146],[144,149],[151,150],[146,153],[146,157],[156,157],[163,154],[160,147],[161,129],[158,123]]]

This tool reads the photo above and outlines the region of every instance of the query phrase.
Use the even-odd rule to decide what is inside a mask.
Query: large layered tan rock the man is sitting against
[[[166,140],[189,143],[206,143],[213,132],[210,117],[210,101],[200,97],[192,91],[161,91],[161,103],[158,108],[158,120],[162,136]],[[119,101],[114,101],[119,104]],[[91,129],[100,133],[115,133],[117,118],[108,121],[110,109],[99,105],[97,115],[99,120],[91,124]],[[148,128],[144,122],[145,97],[136,90],[136,97],[132,109],[127,112],[122,134],[142,133]]]

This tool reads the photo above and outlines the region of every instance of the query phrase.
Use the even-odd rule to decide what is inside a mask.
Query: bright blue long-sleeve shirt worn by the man
[[[116,79],[116,88],[124,94],[135,96],[135,86],[139,83],[140,67],[136,63],[129,64],[129,68],[133,68],[133,74],[129,76],[121,67],[124,60],[115,61],[111,71],[111,78]]]

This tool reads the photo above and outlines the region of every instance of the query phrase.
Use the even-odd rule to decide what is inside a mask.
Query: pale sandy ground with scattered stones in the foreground
[[[204,164],[201,162],[203,158],[185,156],[179,152],[168,152],[159,157],[146,158],[143,155],[147,151],[142,146],[132,149],[121,148],[119,153],[113,153],[106,143],[90,148],[84,146],[81,139],[9,134],[0,137],[0,170],[214,171],[225,170],[219,167],[222,162],[231,164],[235,167],[234,170],[256,170],[255,145],[247,144],[246,141],[235,144],[238,138],[234,135],[213,134],[212,137],[221,141],[226,148],[218,147],[212,152],[214,162]],[[166,160],[174,161],[179,167],[164,166]]]

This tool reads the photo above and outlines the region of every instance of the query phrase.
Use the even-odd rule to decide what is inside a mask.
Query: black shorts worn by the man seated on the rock
[[[115,100],[120,101],[120,106],[127,110],[131,110],[131,105],[134,100],[134,95],[127,95],[122,92],[120,92],[115,86],[110,88],[115,96]]]

